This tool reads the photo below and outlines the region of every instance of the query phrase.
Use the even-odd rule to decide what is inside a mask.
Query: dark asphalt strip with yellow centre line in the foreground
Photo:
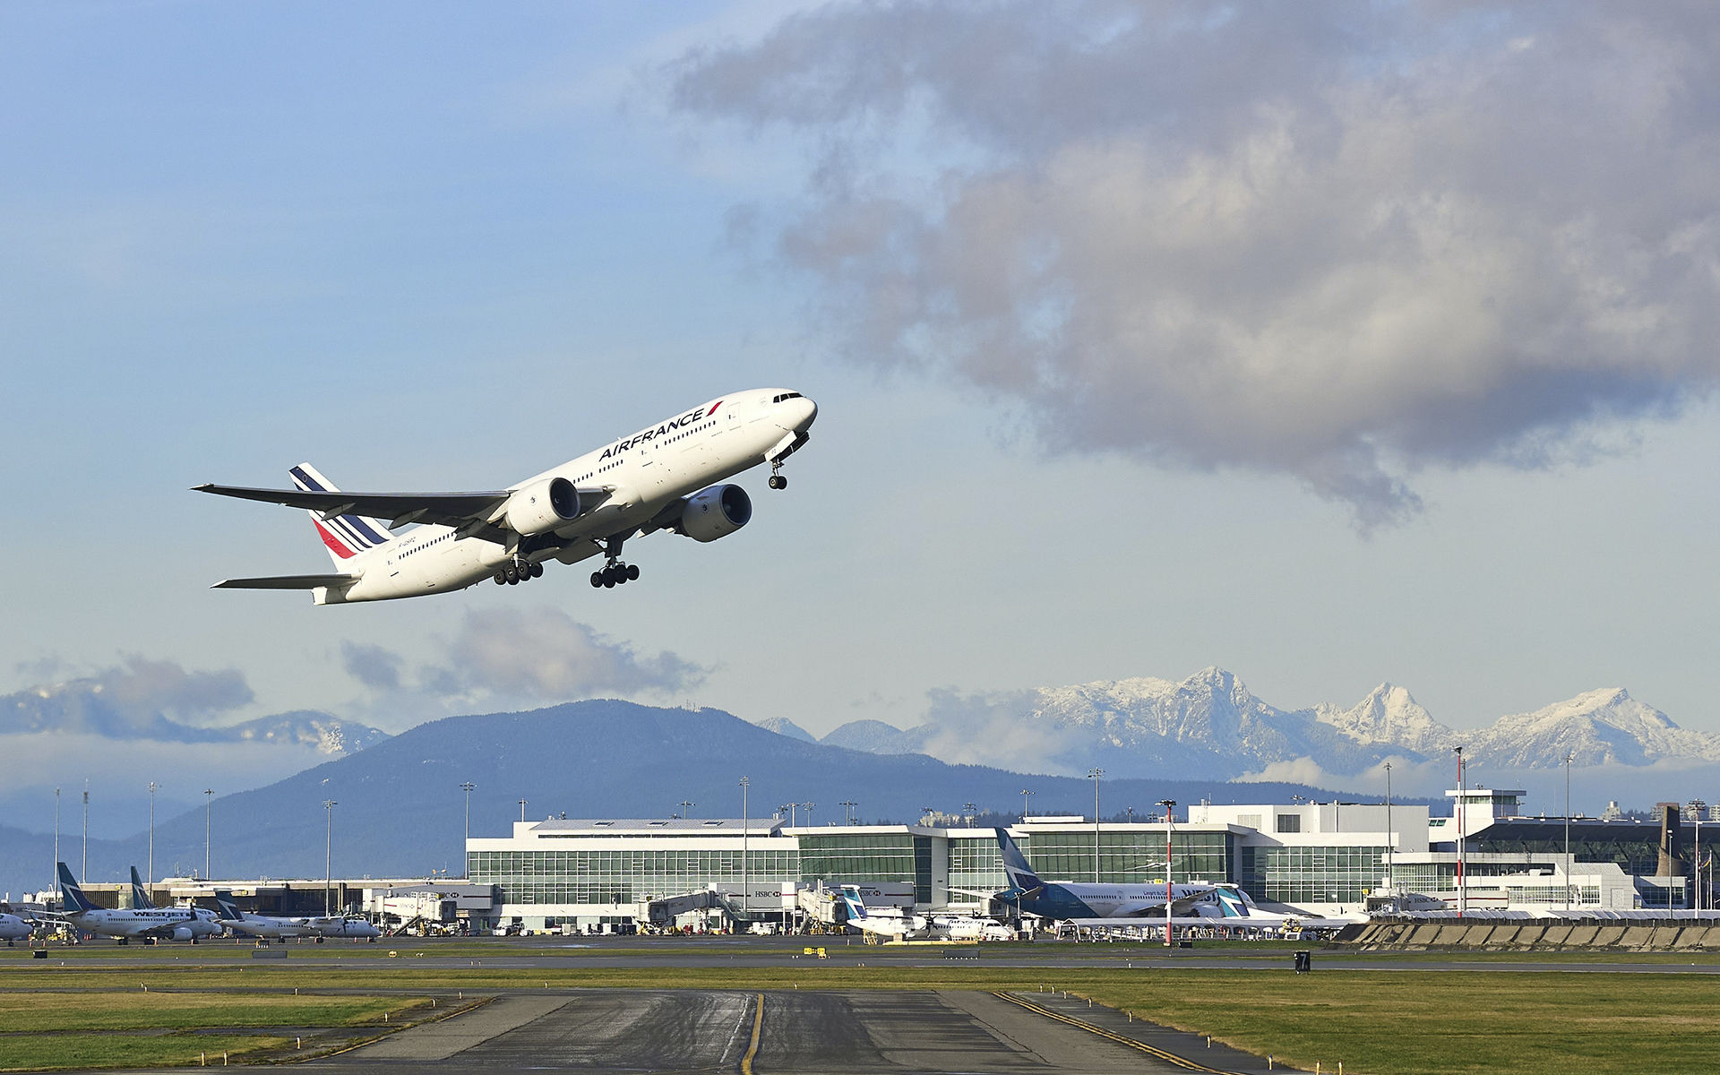
[[[1060,994],[1018,998],[970,991],[667,989],[507,996],[461,1018],[304,1066],[320,1075],[440,1075],[449,1066],[743,1075],[1266,1070],[1256,1058],[1213,1051],[1192,1035],[1147,1023],[1121,1023],[1118,1013],[1094,1011]],[[1142,1041],[1132,1044],[1130,1035]],[[1147,1035],[1158,1035],[1158,1044],[1149,1044]],[[1170,1047],[1199,1058],[1171,1061],[1164,1058]]]

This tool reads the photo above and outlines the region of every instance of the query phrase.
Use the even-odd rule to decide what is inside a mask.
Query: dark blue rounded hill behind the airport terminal
[[[738,817],[740,777],[748,776],[750,812],[765,817],[781,803],[812,802],[814,819],[841,814],[913,820],[924,807],[960,812],[965,803],[1011,814],[1022,788],[1034,789],[1034,812],[1092,808],[1092,783],[1023,776],[980,765],[949,765],[924,755],[874,755],[808,743],[748,724],[716,709],[652,709],[630,702],[574,702],[521,714],[447,717],[401,733],[358,753],[306,769],[284,781],[227,795],[212,803],[217,877],[320,877],[323,802],[334,800],[334,870],[359,875],[421,875],[463,869],[463,781],[471,793],[473,836],[506,836],[526,800],[526,817],[667,817],[693,802],[693,817]],[[1178,802],[1290,802],[1290,795],[1333,798],[1304,784],[1225,784],[1219,781],[1104,781],[1106,814],[1147,812],[1161,798]],[[802,817],[805,810],[802,810]],[[28,858],[3,853],[9,877],[36,884],[46,858],[40,836]],[[117,875],[143,863],[146,836],[91,843],[89,872]],[[203,810],[162,820],[155,831],[157,872],[172,863],[203,863]]]

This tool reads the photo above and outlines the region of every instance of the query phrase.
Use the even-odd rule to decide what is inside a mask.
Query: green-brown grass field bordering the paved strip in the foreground
[[[445,949],[437,949],[444,955]],[[795,949],[798,951],[798,948]],[[488,949],[495,953],[495,949]],[[1133,1011],[1139,1018],[1211,1034],[1250,1053],[1273,1054],[1307,1070],[1319,1061],[1335,1070],[1371,1075],[1624,1075],[1636,1072],[1701,1072],[1713,1065],[1706,1004],[1717,982],[1710,975],[1612,974],[1548,970],[1527,974],[1417,970],[1400,958],[1398,970],[1207,970],[1166,963],[1087,968],[1006,968],[979,963],[948,967],[863,967],[867,953],[845,958],[793,960],[783,967],[581,967],[554,961],[533,970],[421,967],[415,960],[366,960],[351,968],[316,963],[296,967],[237,965],[227,960],[194,963],[163,960],[158,967],[105,970],[10,965],[0,970],[0,1020],[33,1020],[38,1013],[88,1008],[91,1027],[220,1027],[263,1025],[239,1006],[304,1004],[318,1025],[375,1018],[380,1003],[399,1011],[406,996],[423,991],[475,992],[573,987],[685,989],[1058,989]],[[757,955],[757,949],[753,951]],[[1517,961],[1526,961],[1517,956]],[[1533,961],[1533,960],[1529,960]],[[1593,958],[1586,961],[1596,961]],[[1634,958],[1632,961],[1648,961]],[[1679,963],[1711,961],[1682,958]],[[1319,958],[1316,958],[1319,965]],[[29,967],[26,972],[24,967]],[[150,992],[143,992],[143,986]],[[299,998],[291,991],[301,989]],[[187,992],[163,992],[182,989]],[[316,989],[363,996],[310,996]],[[64,992],[43,992],[64,991]],[[225,992],[230,991],[230,992]],[[230,1010],[229,1023],[198,1022]],[[399,996],[387,996],[387,994]],[[186,999],[191,998],[191,999]],[[98,1001],[91,1004],[91,1001]],[[327,1008],[318,1008],[329,1004]],[[225,1010],[224,1010],[225,1006]],[[286,1018],[286,1017],[282,1017]],[[38,1025],[38,1023],[29,1023]],[[46,1023],[43,1023],[46,1025]],[[272,1025],[286,1025],[272,1023]],[[98,1035],[91,1035],[91,1041]],[[139,1047],[162,1039],[136,1037]],[[200,1042],[206,1041],[198,1037]],[[255,1041],[255,1039],[246,1039]],[[12,1058],[0,1037],[5,1066]],[[165,1047],[165,1046],[160,1046]],[[203,1046],[206,1047],[206,1046]],[[126,1056],[112,1063],[157,1063]],[[165,1063],[165,1061],[163,1061]],[[58,1066],[100,1066],[93,1060]]]

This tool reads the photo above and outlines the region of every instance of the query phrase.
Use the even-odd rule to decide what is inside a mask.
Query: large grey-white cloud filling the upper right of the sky
[[[812,148],[736,218],[853,361],[1364,528],[1713,390],[1717,76],[1720,12],[1612,3],[829,5],[669,69]]]

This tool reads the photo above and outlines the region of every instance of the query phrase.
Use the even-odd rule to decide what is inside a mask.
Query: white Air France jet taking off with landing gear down
[[[334,559],[329,574],[227,578],[217,590],[310,590],[318,605],[464,590],[487,578],[518,585],[549,561],[604,566],[592,587],[640,576],[621,559],[633,537],[659,530],[714,542],[752,519],[752,499],[728,478],[800,451],[819,408],[788,389],[752,389],[702,402],[578,459],[492,492],[342,492],[310,463],[296,488],[196,485],[243,501],[310,511]],[[413,526],[396,535],[401,526]]]

